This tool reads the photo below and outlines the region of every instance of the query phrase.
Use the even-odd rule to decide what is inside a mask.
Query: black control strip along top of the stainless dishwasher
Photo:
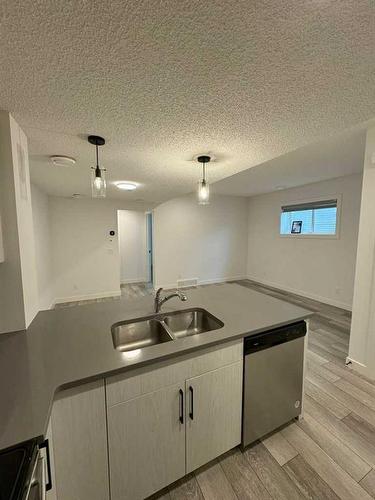
[[[253,354],[263,349],[268,349],[290,340],[298,339],[306,335],[306,323],[299,321],[291,325],[275,328],[267,332],[258,333],[251,337],[246,337],[244,342],[244,355]]]

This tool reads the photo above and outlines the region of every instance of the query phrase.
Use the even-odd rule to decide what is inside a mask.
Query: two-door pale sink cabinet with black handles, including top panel
[[[111,500],[143,499],[241,441],[242,341],[106,380]]]

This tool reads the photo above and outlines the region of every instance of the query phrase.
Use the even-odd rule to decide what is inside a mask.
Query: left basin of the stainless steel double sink
[[[157,319],[122,321],[112,325],[112,339],[118,351],[133,351],[173,340]]]

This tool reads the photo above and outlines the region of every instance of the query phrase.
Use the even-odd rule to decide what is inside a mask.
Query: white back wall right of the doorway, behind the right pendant
[[[212,197],[197,204],[195,195],[168,201],[154,210],[156,286],[178,280],[210,283],[246,275],[247,199]]]

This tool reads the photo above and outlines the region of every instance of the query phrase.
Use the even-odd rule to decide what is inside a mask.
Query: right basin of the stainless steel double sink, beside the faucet
[[[222,321],[204,309],[187,309],[165,314],[163,322],[176,339],[210,332],[224,326]]]

